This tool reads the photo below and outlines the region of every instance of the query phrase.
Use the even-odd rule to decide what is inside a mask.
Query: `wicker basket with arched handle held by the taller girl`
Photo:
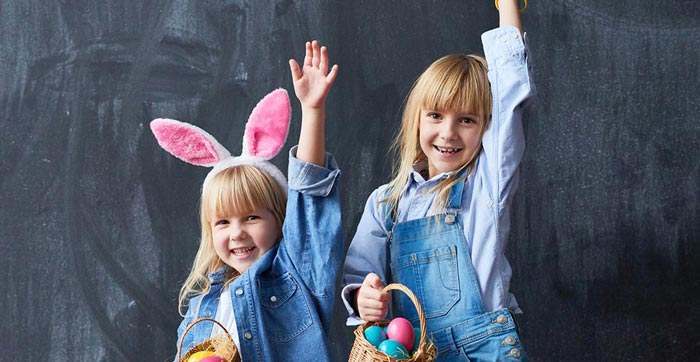
[[[376,347],[369,343],[365,339],[365,328],[373,325],[378,325],[384,327],[389,324],[388,321],[381,322],[366,322],[365,324],[357,326],[355,329],[355,343],[352,345],[352,350],[350,350],[350,356],[348,357],[348,362],[394,362],[394,361],[409,361],[409,362],[429,362],[435,360],[437,355],[437,350],[433,342],[426,336],[427,327],[425,323],[425,313],[423,313],[423,307],[420,305],[418,298],[415,294],[411,292],[410,289],[405,287],[403,284],[389,284],[384,287],[384,292],[389,290],[399,290],[411,299],[413,305],[418,311],[418,319],[420,320],[420,341],[418,342],[418,347],[410,358],[397,360],[391,358],[384,353],[380,352]]]

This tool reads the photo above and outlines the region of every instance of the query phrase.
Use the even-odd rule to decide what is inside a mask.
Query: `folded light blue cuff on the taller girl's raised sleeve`
[[[525,38],[514,26],[504,26],[481,34],[486,62],[491,66],[525,63]]]

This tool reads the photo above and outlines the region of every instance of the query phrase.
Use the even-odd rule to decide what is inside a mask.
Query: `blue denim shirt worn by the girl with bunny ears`
[[[219,298],[231,298],[243,361],[330,359],[336,277],[343,257],[338,169],[289,156],[289,193],[282,239],[224,290],[226,269],[209,275],[206,294],[190,299],[178,340],[196,318],[216,315]],[[187,334],[182,353],[210,337],[202,322]]]

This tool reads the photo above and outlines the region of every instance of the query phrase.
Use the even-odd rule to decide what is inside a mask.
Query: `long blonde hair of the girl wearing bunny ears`
[[[217,216],[244,214],[264,208],[275,217],[282,232],[287,194],[282,186],[267,172],[250,165],[229,167],[214,176],[202,189],[200,201],[200,222],[202,234],[199,249],[192,264],[192,270],[180,288],[178,310],[193,296],[206,293],[210,283],[207,274],[223,266],[216,255],[212,238],[211,222]],[[238,272],[231,270],[226,275],[226,283],[235,279]]]

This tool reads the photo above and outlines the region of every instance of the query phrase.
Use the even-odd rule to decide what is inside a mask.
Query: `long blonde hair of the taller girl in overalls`
[[[419,126],[421,109],[434,111],[456,110],[475,114],[481,125],[479,139],[484,135],[491,119],[491,86],[486,60],[477,55],[452,54],[433,62],[413,83],[406,98],[401,129],[392,145],[398,162],[394,164],[394,177],[389,182],[389,194],[380,202],[388,202],[392,213],[396,212],[399,199],[413,166],[426,160],[420,147]],[[471,168],[481,148],[458,171]],[[441,181],[432,192],[438,192],[437,203],[442,210],[447,204],[449,190],[458,180],[460,172]]]

